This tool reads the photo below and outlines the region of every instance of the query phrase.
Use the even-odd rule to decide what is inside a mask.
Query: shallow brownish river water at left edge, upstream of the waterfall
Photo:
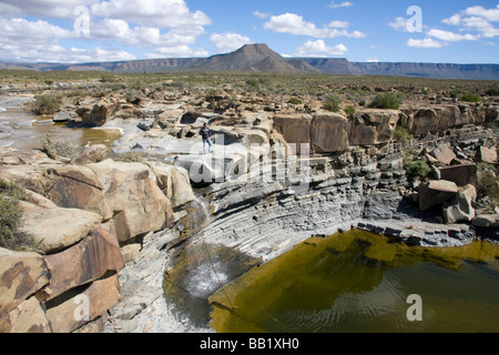
[[[111,148],[120,138],[118,131],[70,129],[64,123],[53,123],[51,118],[38,116],[20,109],[0,112],[0,148],[40,149],[41,141],[47,135],[53,142],[69,142],[77,148],[83,148],[88,143]]]

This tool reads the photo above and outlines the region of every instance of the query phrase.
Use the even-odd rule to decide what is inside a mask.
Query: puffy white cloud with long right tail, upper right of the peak
[[[313,22],[304,21],[303,17],[296,13],[284,13],[271,17],[271,20],[264,24],[265,30],[272,30],[279,33],[289,33],[295,36],[309,36],[314,38],[364,38],[365,33],[360,31],[348,32],[345,29],[338,30],[333,27],[317,28]]]

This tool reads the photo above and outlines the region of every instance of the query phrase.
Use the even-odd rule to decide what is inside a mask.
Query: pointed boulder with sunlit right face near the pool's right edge
[[[472,203],[476,200],[477,189],[475,189],[473,185],[459,187],[459,191],[452,201],[444,205],[444,220],[446,224],[471,222],[475,217]]]

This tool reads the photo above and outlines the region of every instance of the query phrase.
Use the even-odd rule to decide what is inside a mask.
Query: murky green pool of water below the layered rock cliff
[[[310,239],[212,295],[220,332],[498,332],[499,248],[424,248],[350,231]],[[422,321],[410,322],[409,295]],[[228,297],[228,298],[227,298]]]

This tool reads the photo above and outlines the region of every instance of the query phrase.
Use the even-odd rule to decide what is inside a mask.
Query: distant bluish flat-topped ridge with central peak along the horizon
[[[499,64],[350,62],[345,58],[284,58],[267,44],[246,44],[210,58],[173,58],[81,64],[8,63],[0,69],[35,71],[74,70],[114,73],[179,71],[243,71],[275,73],[328,73],[342,75],[391,75],[432,79],[499,80]]]

